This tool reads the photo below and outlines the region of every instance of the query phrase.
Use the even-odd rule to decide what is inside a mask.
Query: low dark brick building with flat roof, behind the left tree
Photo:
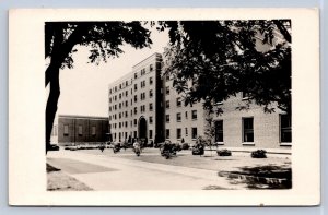
[[[50,140],[59,145],[108,141],[108,118],[58,115],[55,118]]]

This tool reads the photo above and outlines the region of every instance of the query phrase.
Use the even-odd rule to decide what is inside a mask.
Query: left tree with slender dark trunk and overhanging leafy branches
[[[124,51],[120,46],[129,44],[143,48],[152,44],[150,31],[140,22],[47,22],[45,23],[45,58],[50,63],[46,69],[46,87],[49,97],[46,106],[46,153],[51,150],[50,134],[60,95],[59,72],[73,68],[72,53],[77,46],[90,48],[89,60],[99,64]]]

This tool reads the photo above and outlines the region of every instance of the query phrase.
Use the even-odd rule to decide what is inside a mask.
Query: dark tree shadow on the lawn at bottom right
[[[290,165],[266,165],[239,167],[237,171],[219,171],[232,184],[246,183],[248,189],[291,189],[292,169]]]

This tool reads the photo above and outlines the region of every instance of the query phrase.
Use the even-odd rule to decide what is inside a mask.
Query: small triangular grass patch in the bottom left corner
[[[47,164],[48,191],[87,191],[92,190],[73,177],[63,174],[60,169]]]

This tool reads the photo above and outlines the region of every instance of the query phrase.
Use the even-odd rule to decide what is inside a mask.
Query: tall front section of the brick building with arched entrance
[[[114,142],[163,139],[162,56],[154,53],[109,85],[109,128]]]

